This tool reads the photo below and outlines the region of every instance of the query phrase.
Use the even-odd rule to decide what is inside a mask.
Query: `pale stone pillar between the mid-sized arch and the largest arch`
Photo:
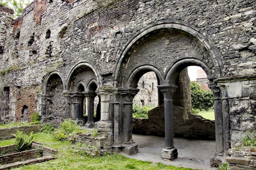
[[[113,120],[110,120],[109,105],[111,96],[115,96],[117,89],[110,83],[103,84],[98,88],[98,93],[101,98],[101,114],[100,121],[97,124],[99,131],[113,132]]]

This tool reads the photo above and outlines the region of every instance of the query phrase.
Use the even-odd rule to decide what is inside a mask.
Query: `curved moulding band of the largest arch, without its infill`
[[[206,32],[204,32],[203,30],[201,30],[200,28],[197,28],[193,25],[191,25],[188,22],[185,21],[181,21],[181,20],[161,20],[161,21],[157,21],[155,23],[149,24],[148,26],[144,27],[139,34],[134,35],[123,47],[123,49],[120,51],[120,53],[118,54],[118,61],[117,61],[117,65],[115,66],[114,70],[113,70],[113,76],[112,76],[112,80],[114,81],[114,87],[117,86],[117,81],[119,78],[119,74],[121,71],[121,66],[123,63],[123,60],[125,59],[125,56],[127,54],[127,52],[129,51],[129,49],[143,36],[145,36],[146,34],[153,32],[155,30],[159,30],[162,28],[174,28],[174,29],[179,29],[182,31],[185,31],[191,35],[193,35],[194,37],[196,37],[201,43],[202,45],[207,49],[207,51],[209,51],[210,53],[210,60],[212,61],[212,63],[214,64],[215,70],[216,72],[218,72],[220,75],[223,74],[223,72],[225,72],[225,70],[223,70],[222,67],[222,63],[223,63],[223,58],[221,57],[221,53],[218,51],[218,49],[214,48],[214,43],[212,42],[212,40],[210,40],[209,36],[207,35]],[[223,71],[223,72],[222,72]]]

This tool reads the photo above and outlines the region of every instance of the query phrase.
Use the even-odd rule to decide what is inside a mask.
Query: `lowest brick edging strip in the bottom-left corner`
[[[11,169],[11,168],[16,168],[28,164],[35,164],[35,163],[40,163],[48,160],[55,159],[56,157],[53,156],[44,156],[44,157],[39,157],[39,158],[34,158],[34,159],[29,159],[29,160],[24,160],[24,161],[19,161],[11,164],[5,164],[0,166],[0,170],[2,169]]]

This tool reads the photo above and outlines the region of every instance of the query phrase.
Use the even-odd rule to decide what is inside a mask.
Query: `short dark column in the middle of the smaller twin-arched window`
[[[87,102],[88,120],[85,126],[88,128],[93,128],[94,127],[94,98],[96,97],[96,93],[94,91],[84,91],[82,93],[86,97],[86,102]]]

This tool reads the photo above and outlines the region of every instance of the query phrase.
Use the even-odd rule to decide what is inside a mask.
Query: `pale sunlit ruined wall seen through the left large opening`
[[[144,82],[144,87],[143,87]],[[144,74],[139,82],[138,82],[138,89],[140,91],[134,97],[133,103],[142,105],[141,100],[144,101],[144,105],[150,104],[153,106],[158,105],[158,88],[157,86],[157,78],[154,72],[148,72]]]

